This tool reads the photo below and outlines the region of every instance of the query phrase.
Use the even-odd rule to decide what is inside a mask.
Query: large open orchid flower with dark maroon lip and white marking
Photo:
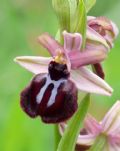
[[[62,122],[74,114],[77,88],[90,93],[112,94],[112,88],[104,80],[83,67],[104,60],[106,51],[86,49],[80,52],[82,36],[79,33],[64,31],[63,36],[64,46],[46,33],[38,38],[52,57],[15,58],[18,64],[35,74],[21,93],[21,106],[29,116],[34,118],[40,115],[46,123]],[[107,47],[102,37],[97,38]]]

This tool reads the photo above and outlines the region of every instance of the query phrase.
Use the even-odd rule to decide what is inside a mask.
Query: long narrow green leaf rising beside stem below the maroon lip
[[[88,111],[90,95],[87,94],[80,102],[79,108],[65,130],[57,151],[74,151],[77,137],[82,128],[83,120]]]

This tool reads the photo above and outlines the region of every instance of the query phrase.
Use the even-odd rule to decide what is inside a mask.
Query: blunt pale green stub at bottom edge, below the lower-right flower
[[[106,137],[104,135],[99,135],[93,144],[93,146],[89,149],[89,151],[101,151],[106,143]]]

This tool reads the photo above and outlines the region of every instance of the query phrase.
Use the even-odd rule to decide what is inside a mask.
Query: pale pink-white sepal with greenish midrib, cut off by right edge
[[[103,132],[115,135],[120,132],[120,101],[117,101],[102,120]]]

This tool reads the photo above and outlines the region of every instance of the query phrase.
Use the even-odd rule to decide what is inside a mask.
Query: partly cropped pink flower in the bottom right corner
[[[66,127],[65,123],[59,124],[61,134]],[[100,134],[103,134],[107,140],[102,151],[120,150],[120,101],[113,105],[101,122],[97,122],[90,115],[85,118],[84,128],[77,139],[77,150],[90,148]]]

